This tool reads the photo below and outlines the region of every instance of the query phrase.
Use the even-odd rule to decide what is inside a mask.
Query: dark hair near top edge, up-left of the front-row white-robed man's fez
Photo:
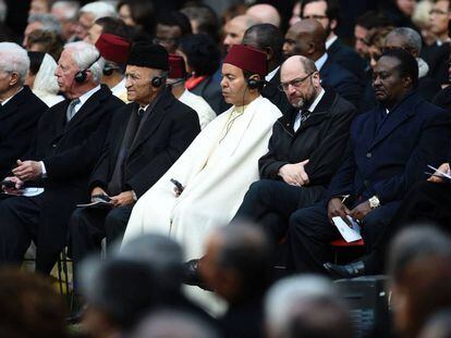
[[[197,33],[211,35],[216,41],[219,40],[219,18],[209,5],[191,5],[181,9],[180,12],[185,14],[190,20],[197,22]]]

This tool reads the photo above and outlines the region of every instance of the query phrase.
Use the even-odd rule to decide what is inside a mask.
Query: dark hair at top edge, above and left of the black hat
[[[155,35],[155,8],[153,1],[148,0],[121,0],[118,3],[118,11],[121,7],[126,4],[130,9],[130,14],[136,23],[138,29],[148,34]]]

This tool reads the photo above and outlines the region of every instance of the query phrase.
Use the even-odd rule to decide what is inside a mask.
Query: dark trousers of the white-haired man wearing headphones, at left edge
[[[0,201],[0,264],[22,263],[29,243],[36,239],[42,202],[42,195]]]

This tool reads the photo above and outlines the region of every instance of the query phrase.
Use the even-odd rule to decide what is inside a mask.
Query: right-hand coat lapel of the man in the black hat
[[[136,136],[136,139],[134,140],[132,148],[130,149],[130,154],[132,154],[157,130],[159,124],[166,115],[166,108],[170,104],[171,96],[172,93],[169,90],[166,90],[162,93],[161,98],[155,104],[146,121],[139,127],[138,135]]]

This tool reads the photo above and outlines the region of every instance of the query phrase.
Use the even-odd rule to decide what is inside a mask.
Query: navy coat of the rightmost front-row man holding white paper
[[[414,183],[427,178],[428,164],[446,161],[450,133],[448,112],[416,92],[388,115],[381,107],[357,115],[349,154],[332,178],[328,198],[350,193],[359,201],[376,195],[381,204],[402,200]]]

